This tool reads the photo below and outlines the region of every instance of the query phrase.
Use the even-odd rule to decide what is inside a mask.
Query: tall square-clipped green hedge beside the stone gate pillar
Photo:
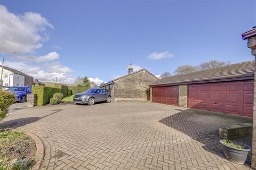
[[[45,87],[45,86],[32,86],[32,93],[37,95],[37,105],[44,106],[49,103],[53,94],[57,92],[62,92],[59,88]]]

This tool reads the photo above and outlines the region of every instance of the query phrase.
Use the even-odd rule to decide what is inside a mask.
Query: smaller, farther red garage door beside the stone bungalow
[[[152,101],[178,106],[178,86],[154,87]]]

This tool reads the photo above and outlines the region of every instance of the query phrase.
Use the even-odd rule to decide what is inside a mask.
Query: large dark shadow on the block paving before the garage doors
[[[251,118],[197,109],[175,109],[179,113],[165,117],[159,122],[203,144],[202,148],[225,158],[219,143],[219,126],[252,122]],[[250,164],[250,158],[246,164]]]

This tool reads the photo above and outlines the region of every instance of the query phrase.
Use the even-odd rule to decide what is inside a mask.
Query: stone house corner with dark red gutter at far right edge
[[[247,39],[247,47],[252,49],[254,56],[254,96],[253,96],[253,125],[252,125],[252,164],[251,167],[256,169],[256,27],[250,31],[242,33],[242,38]]]

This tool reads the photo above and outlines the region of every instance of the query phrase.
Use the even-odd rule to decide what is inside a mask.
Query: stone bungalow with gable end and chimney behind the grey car
[[[127,75],[111,80],[100,87],[111,92],[113,101],[147,101],[149,100],[148,85],[157,80],[159,79],[146,69],[133,72],[130,64]]]

